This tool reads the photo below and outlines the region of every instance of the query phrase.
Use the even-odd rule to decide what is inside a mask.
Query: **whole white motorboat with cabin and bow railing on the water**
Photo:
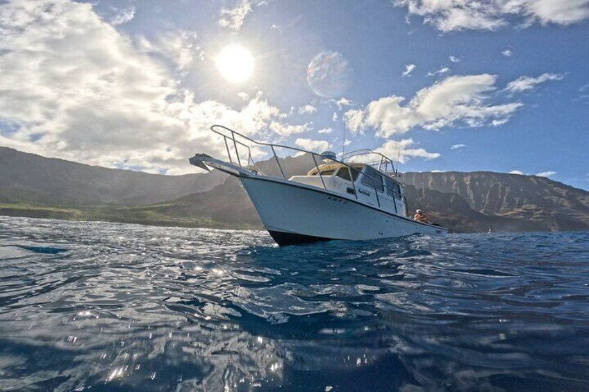
[[[279,246],[448,232],[440,225],[410,218],[398,171],[381,153],[363,149],[343,154],[338,160],[331,151],[315,153],[257,142],[220,125],[211,130],[224,139],[229,162],[197,153],[190,157],[190,164],[237,177]],[[308,154],[313,167],[304,176],[286,176],[276,151],[287,151],[283,156],[289,152]],[[265,174],[253,155],[270,156],[279,175]]]

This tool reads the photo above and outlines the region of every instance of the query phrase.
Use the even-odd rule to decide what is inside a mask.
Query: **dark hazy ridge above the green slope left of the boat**
[[[0,147],[0,203],[146,205],[208,191],[222,173],[162,176],[107,169]]]

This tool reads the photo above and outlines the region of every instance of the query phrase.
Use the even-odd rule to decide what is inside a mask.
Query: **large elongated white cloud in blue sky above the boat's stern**
[[[386,96],[363,110],[349,110],[345,123],[352,133],[372,127],[377,136],[388,138],[417,126],[439,130],[457,123],[476,127],[507,120],[522,104],[492,105],[490,93],[496,90],[495,79],[489,74],[450,76],[420,90],[406,105],[402,105],[402,96]]]

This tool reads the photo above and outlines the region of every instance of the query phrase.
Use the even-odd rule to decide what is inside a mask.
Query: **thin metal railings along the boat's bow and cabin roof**
[[[224,133],[220,132],[219,130],[216,130],[215,128],[222,128],[224,130],[227,130],[227,131],[229,131],[231,133],[231,136],[225,135]],[[257,140],[254,140],[254,139],[251,139],[250,137],[247,137],[245,135],[242,135],[241,133],[238,133],[237,131],[232,130],[231,128],[227,128],[226,126],[222,126],[222,125],[218,125],[218,124],[215,124],[215,125],[211,126],[210,127],[210,130],[212,130],[217,135],[221,135],[222,137],[224,137],[225,146],[226,146],[226,149],[227,149],[227,155],[229,155],[229,160],[230,160],[231,163],[233,163],[233,160],[231,159],[231,153],[229,152],[230,151],[230,149],[229,149],[229,143],[227,141],[229,139],[229,140],[231,140],[231,142],[233,142],[233,148],[235,148],[235,155],[237,156],[237,162],[236,163],[239,165],[239,167],[242,167],[242,164],[241,164],[241,161],[239,159],[239,153],[238,153],[238,147],[237,147],[238,145],[244,146],[245,148],[247,148],[247,151],[248,151],[247,164],[249,164],[249,162],[251,162],[251,166],[253,166],[253,167],[256,167],[256,164],[255,164],[253,158],[251,157],[251,148],[250,148],[250,146],[248,146],[247,144],[244,144],[244,143],[240,142],[239,140],[235,139],[235,135],[239,135],[243,139],[246,139],[247,141],[249,141],[251,143],[258,144],[259,146],[269,146],[272,149],[272,154],[274,155],[274,159],[276,160],[276,164],[278,164],[278,167],[280,169],[282,178],[284,180],[288,180],[288,179],[286,178],[286,176],[284,174],[284,171],[282,169],[282,165],[280,164],[279,157],[278,157],[278,155],[276,155],[275,148],[276,147],[278,147],[278,148],[286,148],[288,150],[299,151],[301,153],[310,154],[311,157],[313,157],[313,162],[315,163],[315,169],[317,169],[317,175],[321,179],[323,188],[324,189],[327,189],[327,187],[325,185],[325,181],[324,181],[323,176],[321,174],[321,171],[319,169],[320,165],[317,164],[316,157],[320,157],[321,158],[322,156],[320,154],[314,153],[313,151],[307,151],[307,150],[304,150],[303,148],[298,148],[298,147],[284,146],[282,144],[258,142]],[[390,164],[392,165],[392,160],[390,160],[390,158],[386,157],[385,155],[383,155],[381,153],[375,153],[374,151],[372,151],[372,150],[370,150],[368,148],[365,148],[364,150],[351,151],[351,152],[349,152],[349,153],[347,153],[345,155],[342,155],[342,160],[341,161],[340,160],[335,160],[335,159],[332,159],[332,158],[330,158],[330,160],[333,161],[333,162],[342,164],[342,165],[344,165],[345,167],[348,168],[349,175],[350,175],[350,182],[351,182],[352,187],[354,189],[354,196],[356,196],[356,199],[358,199],[358,192],[356,191],[356,185],[355,185],[355,181],[354,181],[354,176],[352,176],[352,170],[355,170],[355,171],[358,172],[358,177],[359,176],[365,176],[367,178],[372,179],[373,184],[374,184],[372,186],[372,189],[374,190],[374,194],[376,195],[376,203],[379,205],[379,207],[381,207],[381,202],[380,202],[380,199],[379,199],[379,190],[376,189],[376,182],[377,182],[376,181],[376,177],[372,176],[372,174],[370,174],[370,173],[365,173],[361,169],[358,169],[356,167],[353,167],[350,164],[347,164],[346,162],[344,162],[345,159],[349,159],[352,156],[365,155],[365,154],[368,154],[368,153],[374,153],[374,154],[377,154],[377,155],[381,155],[381,157],[382,157],[381,158],[381,161],[384,158],[385,162],[390,162]],[[359,162],[359,163],[361,163],[361,162]],[[393,166],[393,168],[394,168],[394,166]],[[258,171],[259,171],[259,169],[258,169]],[[396,174],[397,174],[397,171],[395,171],[395,175]],[[379,182],[379,184],[380,184],[380,182]],[[398,194],[399,195],[399,200],[403,200],[404,199],[404,196],[401,195],[401,194],[399,194],[392,187],[388,187],[385,184],[385,181],[383,181],[382,185],[383,185],[383,194],[387,194],[387,192],[385,191],[385,189],[390,189],[392,191],[392,194],[393,194],[393,200],[392,200],[392,202],[395,205],[395,211],[396,211],[397,210],[397,204],[395,203],[395,194]],[[405,208],[407,208],[407,202],[406,202],[406,200],[405,200]]]

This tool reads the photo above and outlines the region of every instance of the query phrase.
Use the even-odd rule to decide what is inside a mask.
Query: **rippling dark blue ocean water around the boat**
[[[1,391],[589,391],[589,233],[0,217]]]

